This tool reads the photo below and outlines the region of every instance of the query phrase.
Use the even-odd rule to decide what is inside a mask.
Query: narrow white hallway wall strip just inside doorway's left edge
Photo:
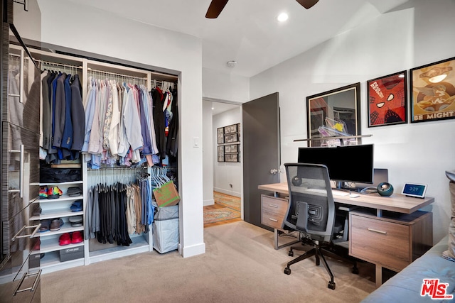
[[[213,199],[213,119],[212,102],[203,101],[203,204],[215,204]]]

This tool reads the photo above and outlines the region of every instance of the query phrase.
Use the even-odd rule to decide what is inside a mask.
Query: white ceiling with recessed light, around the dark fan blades
[[[204,68],[252,77],[408,0],[319,0],[309,10],[295,0],[230,0],[215,19],[205,18],[211,0],[63,1],[196,36]],[[289,20],[279,23],[283,11]]]

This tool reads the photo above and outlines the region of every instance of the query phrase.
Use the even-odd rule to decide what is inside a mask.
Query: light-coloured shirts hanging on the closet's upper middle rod
[[[151,98],[144,85],[89,77],[82,153],[90,168],[109,165],[154,165],[159,153]]]

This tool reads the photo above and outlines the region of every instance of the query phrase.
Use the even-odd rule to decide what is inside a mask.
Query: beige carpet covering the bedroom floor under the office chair
[[[353,275],[329,258],[336,290],[314,258],[285,275],[287,248],[274,250],[273,233],[245,221],[205,228],[204,238],[206,253],[191,258],[154,251],[43,275],[41,302],[360,302],[375,290],[368,263]]]

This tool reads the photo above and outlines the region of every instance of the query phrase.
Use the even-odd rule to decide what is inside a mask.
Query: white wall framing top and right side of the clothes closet
[[[202,148],[202,43],[198,38],[119,16],[87,9],[74,2],[38,1],[43,42],[107,55],[179,72],[180,118],[180,253],[183,257],[205,253],[203,242]],[[125,9],[134,9],[125,6]],[[71,12],[70,15],[68,12]],[[63,20],[64,16],[68,20]]]

